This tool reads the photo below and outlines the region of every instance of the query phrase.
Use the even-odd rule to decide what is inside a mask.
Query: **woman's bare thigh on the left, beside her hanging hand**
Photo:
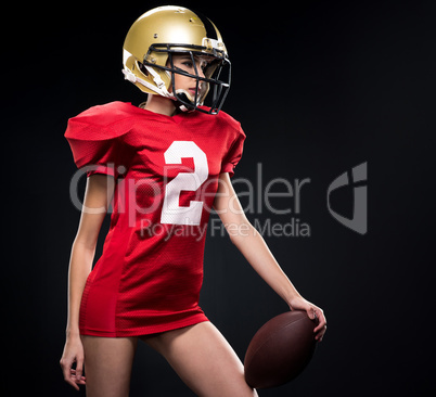
[[[82,336],[87,397],[127,397],[138,338]]]

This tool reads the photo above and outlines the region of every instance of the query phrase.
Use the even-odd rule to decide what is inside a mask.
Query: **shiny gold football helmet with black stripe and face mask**
[[[123,49],[125,78],[141,91],[171,98],[182,111],[209,114],[220,111],[230,88],[230,61],[220,33],[204,15],[175,5],[150,10],[130,27]],[[210,57],[204,77],[198,76],[195,66],[195,75],[175,68],[175,53],[190,54],[194,65],[194,56]],[[175,87],[175,73],[196,79],[194,98]],[[209,90],[210,108],[198,107]]]

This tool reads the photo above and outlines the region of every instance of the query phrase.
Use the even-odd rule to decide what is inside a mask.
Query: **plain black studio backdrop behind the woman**
[[[8,395],[29,388],[78,395],[59,367],[68,256],[79,219],[68,195],[75,166],[63,133],[67,118],[91,105],[143,100],[123,79],[121,47],[133,21],[162,4],[67,2],[53,9],[39,2],[3,13],[12,24],[3,35],[2,74]],[[260,223],[294,216],[310,226],[309,238],[266,240],[296,287],[329,320],[307,370],[260,396],[428,395],[435,390],[426,363],[435,353],[435,3],[283,4],[178,4],[213,20],[229,49],[233,84],[225,111],[247,135],[234,178],[257,185],[258,163],[266,182],[310,178],[300,214],[274,216],[265,203],[261,212],[247,214]],[[363,162],[369,231],[360,235],[329,214],[326,189]],[[293,205],[286,200],[272,203]],[[351,202],[351,188],[332,196],[334,209],[348,217]],[[256,330],[286,310],[219,235],[206,242],[201,305],[242,359]],[[141,345],[131,396],[192,393]]]

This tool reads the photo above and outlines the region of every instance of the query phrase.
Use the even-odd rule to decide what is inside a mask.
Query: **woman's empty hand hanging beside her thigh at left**
[[[86,379],[82,376],[84,358],[84,345],[80,335],[67,336],[60,363],[65,382],[70,384],[76,390],[79,389],[78,385],[86,384]],[[76,369],[73,369],[74,362],[76,362]]]

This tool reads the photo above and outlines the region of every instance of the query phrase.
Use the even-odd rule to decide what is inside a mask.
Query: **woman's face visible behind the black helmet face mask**
[[[204,69],[206,68],[209,60],[207,56],[196,56],[194,55],[195,67],[198,73],[198,77],[204,77]],[[172,55],[172,63],[176,69],[182,69],[191,75],[196,75],[194,63],[192,62],[191,55],[188,54],[174,54]],[[196,91],[196,79],[183,76],[178,73],[175,73],[175,86],[176,90],[183,90],[189,93],[190,100],[194,100],[195,91]],[[198,94],[201,92],[202,81],[198,81]],[[169,88],[169,91],[172,92],[172,87]]]

